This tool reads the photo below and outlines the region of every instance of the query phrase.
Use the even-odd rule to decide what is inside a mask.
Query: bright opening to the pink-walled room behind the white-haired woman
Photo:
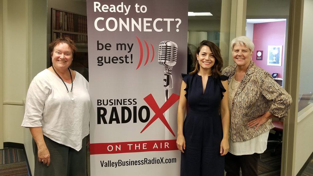
[[[247,19],[246,36],[254,43],[252,60],[283,87],[286,18]]]

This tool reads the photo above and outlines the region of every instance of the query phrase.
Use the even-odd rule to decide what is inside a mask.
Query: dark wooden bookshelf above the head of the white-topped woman
[[[67,35],[78,46],[87,48],[87,16],[51,8],[51,41]]]

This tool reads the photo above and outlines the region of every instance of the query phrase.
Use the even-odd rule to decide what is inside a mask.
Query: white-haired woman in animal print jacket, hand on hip
[[[228,79],[230,110],[229,152],[225,158],[226,176],[256,176],[260,153],[266,149],[271,118],[285,119],[291,96],[271,74],[251,60],[252,41],[245,36],[231,42],[234,65],[223,70]]]

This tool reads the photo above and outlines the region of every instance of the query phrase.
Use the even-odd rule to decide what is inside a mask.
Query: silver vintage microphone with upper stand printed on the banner
[[[158,63],[164,66],[164,89],[168,99],[168,89],[173,88],[172,68],[177,61],[177,44],[172,41],[162,41],[159,44]]]

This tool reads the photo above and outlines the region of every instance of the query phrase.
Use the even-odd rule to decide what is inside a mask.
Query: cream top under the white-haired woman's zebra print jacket
[[[232,111],[233,98],[236,91],[238,90],[239,84],[240,82],[236,81],[233,77],[228,85],[228,107],[230,113]],[[229,130],[231,130],[231,128],[229,128]],[[229,152],[233,155],[250,155],[253,153],[263,153],[266,150],[268,137],[269,131],[264,132],[244,142],[233,142],[233,140],[231,140],[229,137]]]

